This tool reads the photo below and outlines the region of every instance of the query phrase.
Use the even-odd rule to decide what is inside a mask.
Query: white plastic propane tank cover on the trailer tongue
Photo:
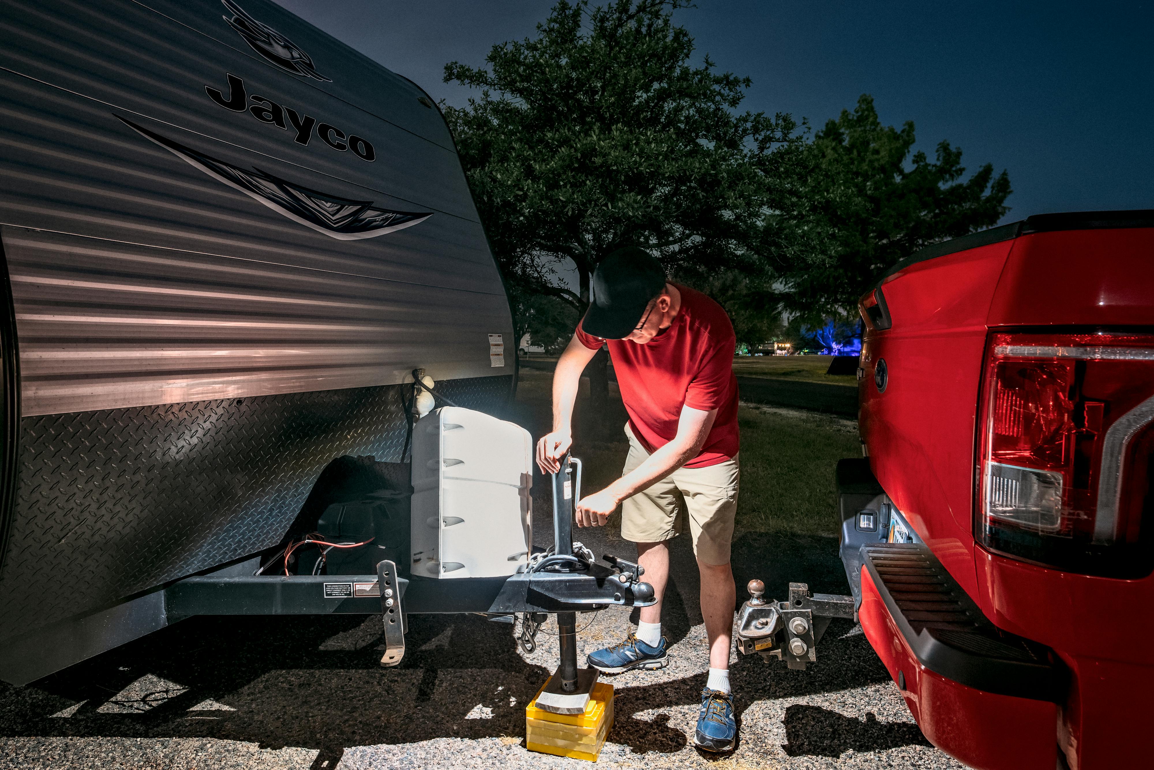
[[[512,575],[532,548],[533,438],[442,407],[413,426],[412,564],[427,578]]]

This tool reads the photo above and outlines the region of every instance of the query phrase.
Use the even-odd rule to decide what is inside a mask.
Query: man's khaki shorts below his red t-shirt
[[[629,456],[621,475],[650,453],[625,424]],[[694,553],[705,564],[729,564],[733,518],[737,511],[737,458],[704,468],[677,468],[621,504],[621,536],[634,543],[659,543],[676,537],[689,519]]]

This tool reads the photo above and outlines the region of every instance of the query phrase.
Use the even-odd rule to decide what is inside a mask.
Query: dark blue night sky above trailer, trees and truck
[[[549,0],[278,0],[434,98],[451,60],[534,33]],[[676,18],[699,53],[748,75],[745,106],[823,124],[861,93],[913,120],[919,149],[1010,172],[1006,220],[1154,207],[1154,1],[700,0]]]

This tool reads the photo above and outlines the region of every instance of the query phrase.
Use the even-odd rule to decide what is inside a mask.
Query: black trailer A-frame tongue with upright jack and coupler
[[[560,663],[537,705],[556,714],[579,714],[597,671],[577,665],[577,613],[614,604],[649,606],[655,599],[653,587],[640,580],[644,568],[639,565],[605,554],[609,566],[602,566],[579,543],[575,548],[580,461],[567,455],[561,466],[552,476],[554,544],[530,557],[526,567],[509,578],[403,578],[388,559],[377,564],[375,575],[207,575],[166,588],[166,612],[170,620],[196,614],[380,612],[384,625],[381,664],[387,666],[399,664],[404,656],[409,614],[522,616],[530,644],[544,616],[556,614]]]

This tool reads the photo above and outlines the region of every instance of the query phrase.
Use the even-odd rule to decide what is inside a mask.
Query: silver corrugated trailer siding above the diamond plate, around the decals
[[[514,344],[501,279],[443,120],[415,86],[315,31],[294,41],[308,40],[319,69],[332,53],[334,82],[280,73],[188,24],[195,9],[202,29],[243,47],[216,1],[181,3],[185,23],[133,2],[8,5],[0,221],[25,416],[370,387],[414,367],[436,379],[510,373],[488,355],[489,333]],[[375,159],[220,107],[205,88],[227,91],[226,73],[249,96],[355,130]],[[380,84],[372,112],[321,88],[367,73]],[[404,106],[397,122],[375,114],[390,98]],[[338,240],[125,121],[235,168],[429,216]]]

